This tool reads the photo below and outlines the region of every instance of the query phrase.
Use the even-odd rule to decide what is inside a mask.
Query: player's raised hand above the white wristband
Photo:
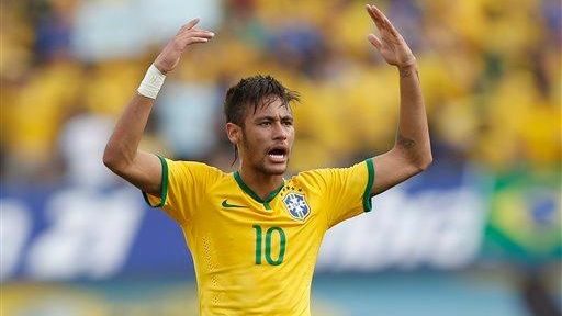
[[[206,43],[209,40],[213,38],[215,34],[213,32],[201,30],[195,27],[199,23],[199,19],[193,19],[189,21],[187,24],[182,25],[178,34],[173,36],[173,38],[166,44],[162,52],[156,57],[154,65],[160,72],[167,74],[180,61],[181,54],[186,50],[191,44],[195,43]]]

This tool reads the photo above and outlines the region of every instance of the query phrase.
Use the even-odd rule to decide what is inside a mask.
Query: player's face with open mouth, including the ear
[[[228,126],[228,124],[232,124]],[[238,145],[244,168],[268,176],[282,176],[294,140],[291,109],[276,98],[248,110],[244,127],[227,124],[228,138]]]

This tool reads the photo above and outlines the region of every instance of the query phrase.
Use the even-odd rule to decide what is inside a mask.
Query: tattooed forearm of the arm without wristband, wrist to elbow
[[[416,64],[400,67],[400,119],[394,148],[425,169],[431,162],[427,114]]]

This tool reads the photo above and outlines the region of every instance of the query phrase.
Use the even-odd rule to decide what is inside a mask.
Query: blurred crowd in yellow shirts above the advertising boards
[[[497,171],[560,163],[559,0],[375,4],[417,56],[437,163],[469,161]],[[72,159],[65,133],[81,135],[78,119],[119,117],[166,38],[195,14],[216,36],[190,46],[168,76],[143,148],[232,170],[222,102],[231,84],[255,74],[271,74],[302,95],[291,172],[345,166],[393,144],[398,77],[366,40],[375,27],[364,1],[22,0],[2,7],[4,183],[61,180]]]

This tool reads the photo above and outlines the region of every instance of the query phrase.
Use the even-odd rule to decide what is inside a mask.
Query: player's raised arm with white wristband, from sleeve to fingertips
[[[194,19],[181,26],[156,57],[153,64],[156,68],[150,67],[138,92],[126,105],[103,153],[103,163],[111,171],[156,196],[160,195],[161,165],[158,157],[138,150],[138,143],[159,90],[158,82],[161,84],[165,75],[176,68],[189,45],[206,43],[214,36],[212,32],[198,29],[198,23],[199,19]]]

